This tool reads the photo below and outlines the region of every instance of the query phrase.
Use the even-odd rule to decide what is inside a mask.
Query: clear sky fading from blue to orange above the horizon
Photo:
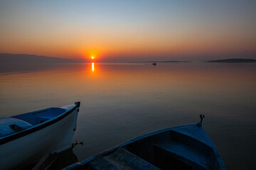
[[[255,0],[0,0],[0,53],[98,62],[256,59]]]

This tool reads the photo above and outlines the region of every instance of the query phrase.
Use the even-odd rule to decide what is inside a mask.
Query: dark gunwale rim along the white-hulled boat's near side
[[[75,111],[76,108],[79,108],[80,107],[80,102],[75,102],[74,105],[75,105],[74,108],[70,109],[70,111],[66,111],[64,113],[61,113],[60,115],[58,115],[57,117],[55,117],[53,119],[50,119],[49,121],[46,121],[44,123],[40,123],[38,125],[34,125],[31,128],[28,128],[28,129],[23,130],[21,132],[17,132],[17,133],[11,134],[9,136],[6,136],[6,137],[0,139],[0,145],[4,145],[7,142],[11,142],[12,140],[16,140],[16,139],[18,139],[20,137],[29,135],[29,134],[31,134],[33,132],[36,132],[36,131],[41,130],[43,128],[46,128],[46,127],[48,127],[50,125],[53,125],[53,123],[57,123],[58,121],[60,121],[63,118],[65,118],[66,116],[70,115],[70,113],[73,113],[73,111]],[[58,108],[61,108],[61,107],[58,107]],[[43,110],[45,110],[45,109],[43,109]],[[43,111],[43,110],[39,110],[39,111]]]

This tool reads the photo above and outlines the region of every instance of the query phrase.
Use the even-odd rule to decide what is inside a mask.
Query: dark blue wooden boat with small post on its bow
[[[197,125],[152,132],[65,169],[225,169],[210,137]]]

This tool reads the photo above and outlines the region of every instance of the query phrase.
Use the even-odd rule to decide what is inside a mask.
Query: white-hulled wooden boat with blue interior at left
[[[0,118],[1,169],[17,169],[72,147],[80,102]]]

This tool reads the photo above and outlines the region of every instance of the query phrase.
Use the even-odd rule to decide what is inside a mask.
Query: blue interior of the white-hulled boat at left
[[[26,130],[64,113],[63,108],[47,108],[41,111],[0,118],[0,138]]]

